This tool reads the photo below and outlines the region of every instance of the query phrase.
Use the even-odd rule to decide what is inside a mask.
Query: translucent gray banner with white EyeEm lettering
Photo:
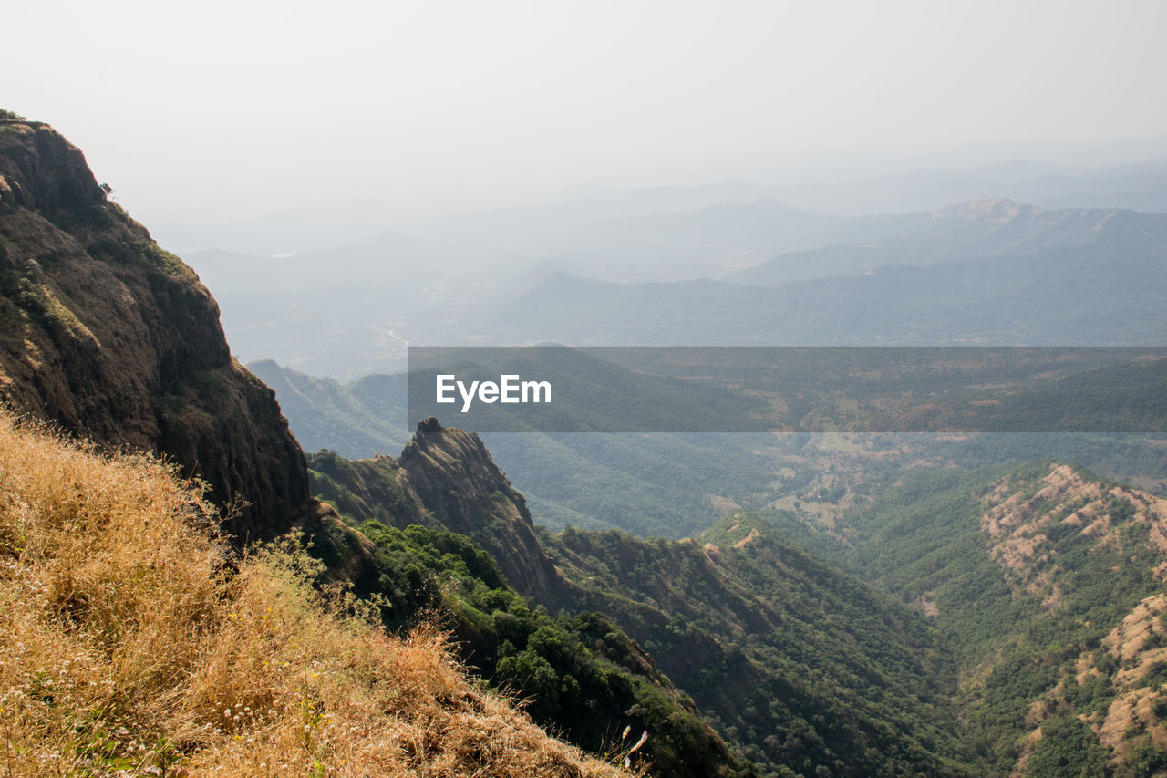
[[[476,432],[1167,431],[1167,347],[410,347]]]

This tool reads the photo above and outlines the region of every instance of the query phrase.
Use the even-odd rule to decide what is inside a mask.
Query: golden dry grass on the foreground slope
[[[0,416],[0,777],[617,774],[439,631],[370,626],[294,542],[233,561],[207,515],[158,463]]]

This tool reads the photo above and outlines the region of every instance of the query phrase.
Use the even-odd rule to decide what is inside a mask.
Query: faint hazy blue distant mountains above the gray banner
[[[406,343],[1154,345],[1167,331],[1165,214],[994,196],[844,218],[760,199],[530,229],[512,250],[393,236],[191,261],[247,361],[344,380],[404,370]]]

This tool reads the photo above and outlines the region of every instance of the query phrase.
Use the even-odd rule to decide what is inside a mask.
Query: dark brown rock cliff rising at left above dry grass
[[[209,485],[240,540],[313,510],[274,394],[231,357],[218,306],[51,127],[0,120],[0,400]]]

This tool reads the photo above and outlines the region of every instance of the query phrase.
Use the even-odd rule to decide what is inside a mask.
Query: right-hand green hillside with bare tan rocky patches
[[[852,561],[959,647],[970,736],[998,772],[1167,767],[1161,498],[1033,463],[904,475],[841,527]]]

